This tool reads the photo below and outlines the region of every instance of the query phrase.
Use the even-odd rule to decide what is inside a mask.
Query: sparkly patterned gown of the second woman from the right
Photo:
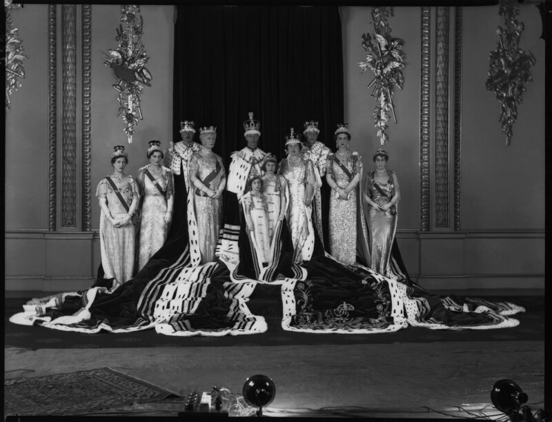
[[[334,155],[328,156],[326,171],[331,174],[332,179],[339,188],[346,188],[351,182],[348,175],[335,162]],[[362,161],[356,154],[348,154],[345,159],[339,157],[342,165],[355,177],[361,174]],[[335,190],[330,194],[329,213],[329,249],[330,254],[340,263],[353,265],[356,261],[357,250],[357,190],[359,184],[349,192],[348,199],[339,198]]]

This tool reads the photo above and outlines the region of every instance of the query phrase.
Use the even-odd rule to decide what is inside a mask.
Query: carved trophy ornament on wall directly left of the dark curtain
[[[141,112],[141,99],[145,86],[151,86],[151,73],[146,68],[150,59],[144,44],[141,42],[144,34],[144,19],[141,17],[140,6],[121,6],[121,22],[117,30],[115,41],[119,46],[114,50],[103,52],[108,58],[103,62],[104,66],[112,68],[116,82],[113,88],[119,92],[119,112],[117,117],[123,116],[125,123],[124,131],[128,137],[128,143],[132,143],[132,135],[135,134],[135,127],[138,120],[143,120]]]

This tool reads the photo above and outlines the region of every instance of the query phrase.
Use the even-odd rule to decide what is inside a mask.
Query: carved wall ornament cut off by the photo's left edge
[[[2,57],[6,66],[6,115],[11,108],[11,95],[21,88],[19,79],[25,78],[23,59],[28,57],[23,54],[23,40],[19,38],[19,30],[14,28],[12,10],[22,8],[21,4],[13,4],[12,0],[4,0],[6,10],[6,56]],[[3,43],[2,43],[3,44]],[[4,54],[1,54],[4,56]]]

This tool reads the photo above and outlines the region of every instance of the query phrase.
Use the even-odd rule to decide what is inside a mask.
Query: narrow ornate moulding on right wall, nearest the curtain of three
[[[427,6],[422,6],[422,48],[420,72],[420,230],[430,230],[430,165],[429,165],[429,64],[430,64],[430,12]]]

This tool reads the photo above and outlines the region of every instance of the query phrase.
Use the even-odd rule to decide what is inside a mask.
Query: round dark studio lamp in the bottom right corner
[[[546,422],[548,414],[545,410],[538,410],[533,416],[527,403],[529,397],[519,385],[511,379],[496,381],[491,388],[491,402],[493,406],[509,416],[512,422]],[[520,413],[520,410],[522,411]]]

